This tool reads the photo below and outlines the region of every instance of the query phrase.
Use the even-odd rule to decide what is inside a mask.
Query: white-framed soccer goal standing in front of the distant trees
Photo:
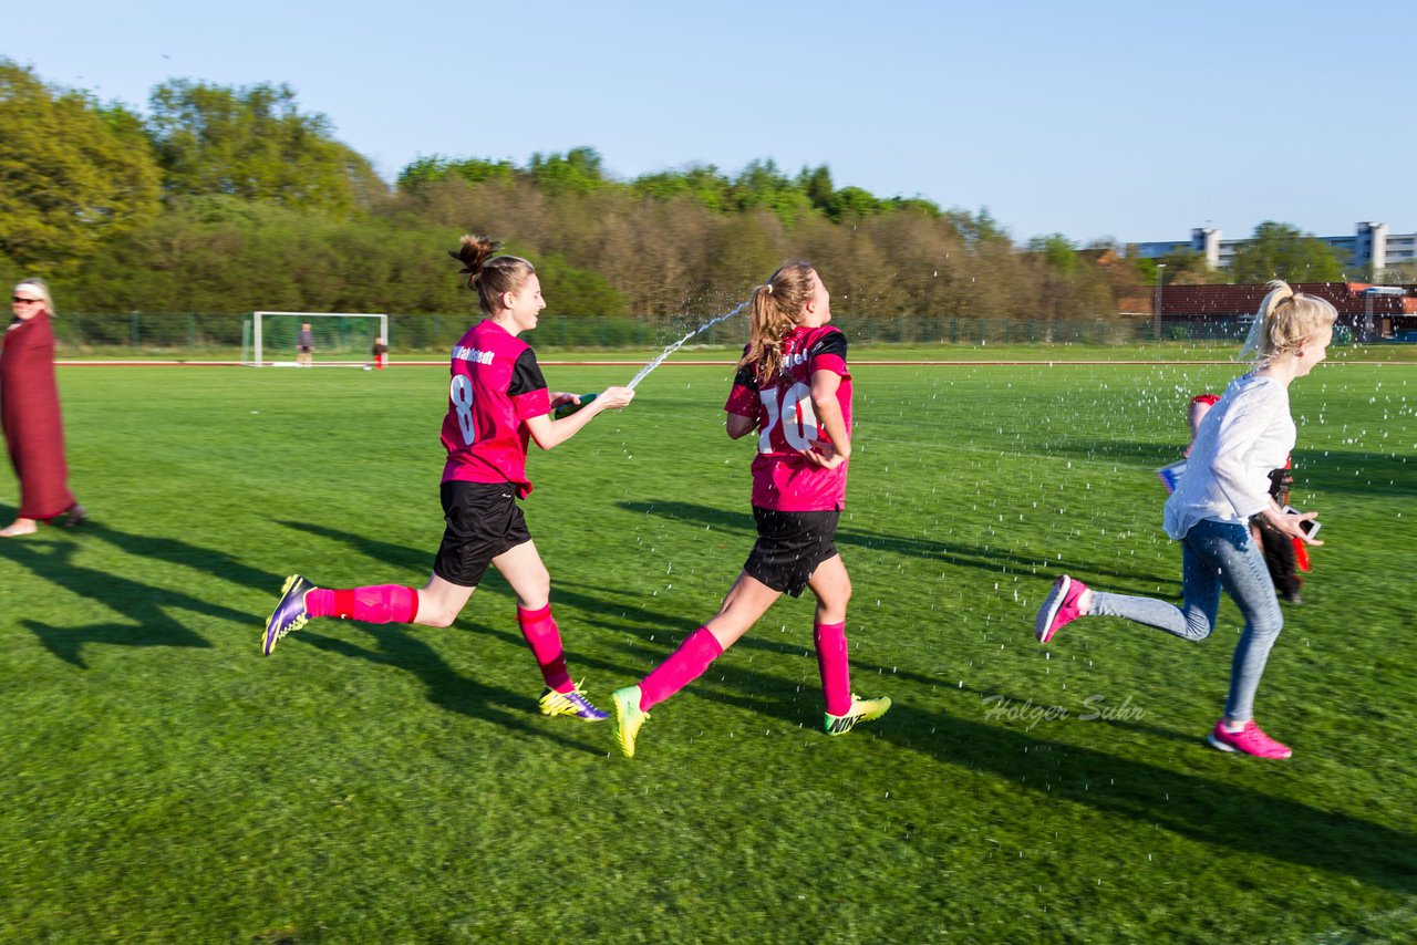
[[[377,339],[391,344],[384,313],[252,312],[241,326],[241,363],[298,367],[300,332],[306,324],[313,341],[309,363],[315,367],[364,367],[374,363]]]

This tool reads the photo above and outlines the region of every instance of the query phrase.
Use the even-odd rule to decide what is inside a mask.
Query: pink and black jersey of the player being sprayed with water
[[[738,368],[724,409],[757,421],[758,455],[752,458],[752,504],[778,511],[832,511],[846,502],[846,468],[815,466],[802,451],[826,431],[812,409],[812,374],[842,375],[836,401],[847,434],[852,429],[852,375],[846,370],[846,336],[830,324],[795,327],[782,341],[782,363],[762,385],[751,367]]]

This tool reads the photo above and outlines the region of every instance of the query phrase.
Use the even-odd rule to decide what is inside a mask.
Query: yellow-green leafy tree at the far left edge
[[[157,213],[157,166],[122,106],[0,60],[0,255],[13,264],[84,259]]]

